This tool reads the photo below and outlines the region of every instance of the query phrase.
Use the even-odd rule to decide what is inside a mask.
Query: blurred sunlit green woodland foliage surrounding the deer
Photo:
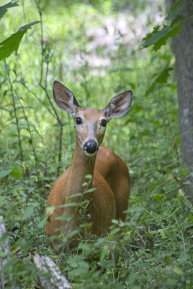
[[[76,288],[192,288],[193,214],[183,189],[187,168],[180,152],[174,58],[170,42],[156,53],[151,47],[139,49],[146,34],[163,23],[165,3],[18,4],[1,18],[1,42],[24,25],[41,23],[27,29],[17,52],[0,62],[0,212],[12,246],[1,273],[5,288],[37,286],[36,273],[21,257],[34,251],[52,256],[45,204],[75,147],[71,116],[52,98],[54,79],[83,107],[104,108],[116,94],[133,89],[130,110],[108,124],[103,141],[130,171],[127,221],[114,221],[117,233],[112,227],[109,238],[81,242],[82,254],[64,255],[61,270],[69,270]],[[168,65],[171,69],[151,87]],[[110,247],[120,252],[117,262],[108,257]]]

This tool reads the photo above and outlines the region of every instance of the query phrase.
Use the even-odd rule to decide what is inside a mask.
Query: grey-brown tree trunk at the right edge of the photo
[[[172,7],[178,0],[170,0]],[[179,103],[179,125],[183,163],[188,167],[185,179],[185,192],[193,203],[193,2],[187,2],[180,17],[186,18],[181,32],[174,38],[172,45],[176,57],[176,75]]]

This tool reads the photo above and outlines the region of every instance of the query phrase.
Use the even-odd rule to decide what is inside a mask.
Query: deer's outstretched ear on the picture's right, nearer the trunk
[[[131,106],[132,98],[132,90],[126,90],[113,97],[104,109],[106,118],[110,120],[113,117],[119,117],[125,114]]]

